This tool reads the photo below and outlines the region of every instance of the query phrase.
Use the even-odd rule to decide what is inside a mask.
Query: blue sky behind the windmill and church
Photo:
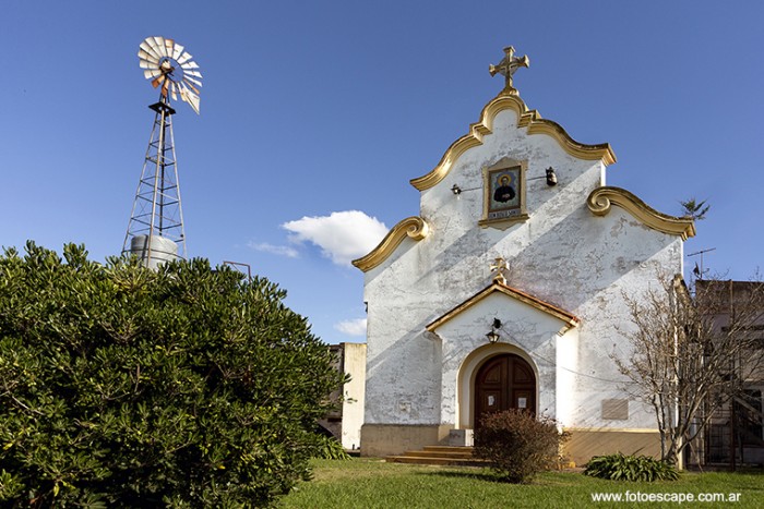
[[[501,90],[488,64],[513,45],[528,107],[610,143],[608,184],[658,210],[707,199],[685,254],[716,249],[707,268],[748,279],[764,244],[762,20],[760,1],[5,0],[0,244],[119,253],[158,98],[138,46],[175,38],[204,75],[201,116],[174,118],[189,254],[250,264],[325,341],[362,341],[347,260],[418,214],[409,179]]]

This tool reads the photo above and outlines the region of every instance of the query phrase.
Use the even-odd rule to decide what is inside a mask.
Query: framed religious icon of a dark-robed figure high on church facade
[[[481,227],[506,228],[512,221],[526,219],[525,161],[503,158],[484,168],[484,214]]]

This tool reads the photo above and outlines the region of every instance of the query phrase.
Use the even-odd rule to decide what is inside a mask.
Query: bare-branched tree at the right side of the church
[[[764,283],[743,284],[735,293],[740,282],[697,280],[693,295],[680,276],[659,275],[644,294],[624,294],[629,353],[611,356],[629,378],[628,389],[655,411],[669,463],[747,380],[762,378]]]

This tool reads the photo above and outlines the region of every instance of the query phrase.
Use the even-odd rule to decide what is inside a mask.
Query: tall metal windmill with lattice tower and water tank
[[[146,37],[138,52],[143,75],[159,89],[159,101],[151,105],[155,112],[141,180],[135,192],[122,253],[138,255],[146,267],[186,258],[186,232],[180,203],[178,166],[172,135],[172,100],[188,102],[199,113],[199,87],[202,74],[184,48],[172,39]],[[129,243],[129,244],[128,244]]]

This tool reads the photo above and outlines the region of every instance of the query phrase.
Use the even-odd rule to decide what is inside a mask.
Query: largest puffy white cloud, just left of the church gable
[[[359,210],[303,217],[282,227],[293,233],[289,235],[291,242],[311,242],[337,265],[347,265],[368,254],[387,233],[382,221]]]

